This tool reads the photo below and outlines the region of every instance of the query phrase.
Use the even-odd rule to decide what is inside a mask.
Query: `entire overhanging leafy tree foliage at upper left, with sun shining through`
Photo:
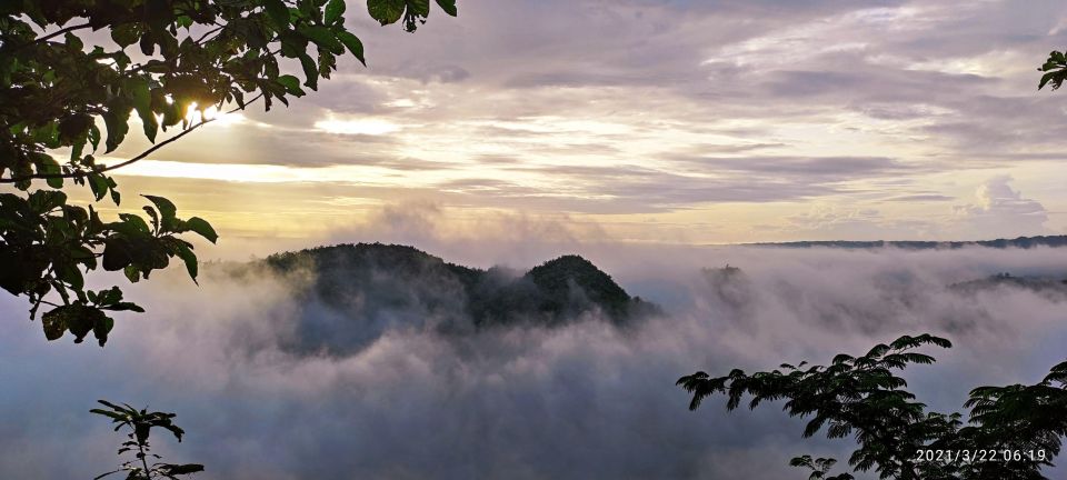
[[[456,14],[455,0],[437,0]],[[429,0],[369,0],[382,24],[403,19],[413,31]],[[167,199],[144,196],[147,217],[101,219],[98,208],[73,204],[62,191],[88,187],[94,202],[121,201],[109,172],[141,160],[211,121],[223,106],[269,110],[315,90],[346,51],[366,64],[363,46],[345,26],[343,0],[11,0],[0,2],[0,288],[42,306],[46,336],[93,331],[101,346],[110,311],[140,307],[121,291],[86,290],[83,273],[123,271],[136,282],[171,259],[196,280],[197,256],[185,237],[218,238],[203,219],[181,219]],[[89,31],[109,33],[117,48],[92,44]],[[303,81],[282,73],[286,64]],[[138,118],[131,122],[131,116]],[[118,163],[96,157],[116,151],[131,123],[156,142]],[[61,159],[60,156],[66,157]],[[36,190],[31,190],[36,189]]]

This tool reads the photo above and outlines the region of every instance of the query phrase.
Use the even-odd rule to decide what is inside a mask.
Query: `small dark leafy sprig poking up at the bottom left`
[[[126,434],[128,440],[119,447],[118,454],[132,452],[133,460],[127,460],[122,462],[119,469],[97,476],[93,480],[119,472],[127,472],[127,480],[177,480],[180,476],[203,471],[203,466],[198,463],[154,462],[149,464],[149,458],[161,459],[160,456],[152,453],[151,444],[148,442],[153,428],[170,431],[179,442],[181,436],[186,433],[185,430],[173,423],[173,413],[150,412],[148,409],[137,410],[129,404],[117,406],[107,400],[98,400],[98,402],[107,409],[92,409],[90,412],[110,418],[111,422],[114,423],[114,431],[129,430],[129,433]]]

